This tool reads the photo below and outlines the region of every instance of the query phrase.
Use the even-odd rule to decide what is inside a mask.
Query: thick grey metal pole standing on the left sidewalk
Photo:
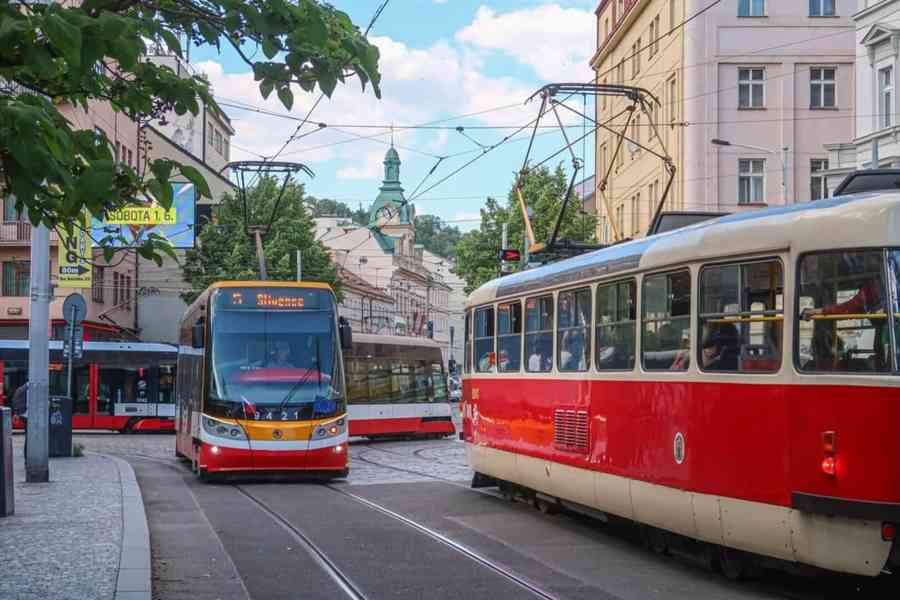
[[[28,321],[28,453],[25,481],[50,480],[50,230],[31,229],[31,317]]]

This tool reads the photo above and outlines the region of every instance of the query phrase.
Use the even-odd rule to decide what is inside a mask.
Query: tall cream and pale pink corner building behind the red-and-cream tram
[[[822,195],[825,145],[853,130],[855,9],[840,0],[600,3],[597,81],[645,88],[661,103],[652,117],[660,136],[640,122],[629,135],[671,156],[667,210],[734,212]],[[621,104],[599,101],[598,119]],[[615,142],[597,136],[598,185]],[[666,180],[658,158],[625,147],[608,207],[598,194],[607,242],[614,229],[620,239],[646,231]]]

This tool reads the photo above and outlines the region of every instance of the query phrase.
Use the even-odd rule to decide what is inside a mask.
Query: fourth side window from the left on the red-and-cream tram
[[[560,371],[587,371],[591,364],[591,289],[560,292],[556,307]]]

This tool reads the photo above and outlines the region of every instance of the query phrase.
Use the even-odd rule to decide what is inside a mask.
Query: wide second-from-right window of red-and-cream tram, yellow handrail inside
[[[777,371],[783,301],[783,273],[777,260],[704,268],[700,272],[700,368]]]

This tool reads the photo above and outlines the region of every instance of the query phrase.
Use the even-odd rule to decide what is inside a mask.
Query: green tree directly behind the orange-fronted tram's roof
[[[263,178],[247,190],[250,225],[268,222],[280,190],[281,183],[272,178]],[[331,284],[340,299],[337,267],[325,246],[315,239],[315,222],[303,194],[302,185],[288,185],[279,214],[263,240],[269,279],[295,280],[297,250],[301,250],[303,279]],[[184,275],[192,288],[182,294],[186,302],[193,302],[216,281],[259,279],[256,243],[245,230],[243,203],[237,196],[226,196],[213,223],[200,232],[197,248],[187,252]]]

